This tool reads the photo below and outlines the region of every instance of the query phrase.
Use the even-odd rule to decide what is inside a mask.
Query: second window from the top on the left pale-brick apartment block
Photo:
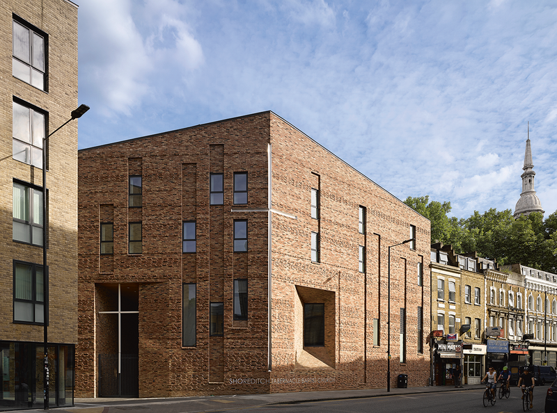
[[[13,159],[42,169],[45,114],[13,102]]]

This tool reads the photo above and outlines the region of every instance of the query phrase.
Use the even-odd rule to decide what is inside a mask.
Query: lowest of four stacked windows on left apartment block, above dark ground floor
[[[13,321],[42,324],[44,300],[42,266],[13,262]]]

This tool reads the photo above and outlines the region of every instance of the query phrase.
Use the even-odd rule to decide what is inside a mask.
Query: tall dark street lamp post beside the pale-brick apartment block
[[[58,127],[54,132],[49,133],[42,143],[42,323],[44,328],[43,346],[44,346],[44,380],[42,383],[44,394],[44,408],[49,408],[49,371],[48,371],[48,277],[47,277],[47,143],[54,133],[65,127],[68,122],[81,118],[81,115],[89,110],[89,106],[81,105],[74,109],[71,113],[72,118],[68,119]]]

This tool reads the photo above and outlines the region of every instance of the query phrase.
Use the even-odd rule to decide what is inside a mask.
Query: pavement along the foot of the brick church
[[[227,396],[191,396],[180,398],[75,398],[74,406],[72,407],[56,407],[55,411],[62,412],[77,412],[84,410],[84,413],[93,410],[100,412],[108,412],[108,407],[123,407],[129,406],[125,410],[132,410],[133,406],[146,406],[152,405],[155,407],[157,404],[168,403],[187,403],[194,405],[196,402],[203,403],[205,409],[210,407],[214,402],[214,407],[222,407],[223,400],[235,398],[238,402],[244,399],[246,403],[249,399],[250,405],[280,405],[280,404],[294,404],[312,401],[323,400],[342,400],[349,398],[369,398],[369,397],[384,397],[384,396],[398,396],[407,394],[423,394],[423,393],[439,393],[444,391],[467,391],[467,390],[483,390],[485,384],[463,384],[462,387],[455,388],[454,386],[427,386],[427,387],[407,387],[399,389],[398,387],[391,387],[391,391],[383,389],[359,389],[359,390],[334,390],[334,391],[299,391],[296,393],[273,393],[273,394],[238,394]],[[54,410],[54,409],[53,409]],[[33,410],[19,410],[19,412],[45,412],[42,409]]]

